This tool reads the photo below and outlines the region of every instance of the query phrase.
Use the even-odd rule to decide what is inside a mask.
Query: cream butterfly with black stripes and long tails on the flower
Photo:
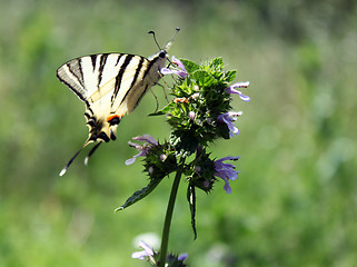
[[[176,29],[176,33],[179,28]],[[153,40],[159,47],[155,32]],[[173,37],[160,51],[149,58],[129,53],[97,53],[71,59],[57,70],[58,79],[86,103],[86,121],[89,137],[61,170],[65,175],[81,149],[97,142],[85,159],[102,144],[116,140],[121,118],[130,113],[145,92],[161,78],[160,70],[168,59],[167,50]]]

